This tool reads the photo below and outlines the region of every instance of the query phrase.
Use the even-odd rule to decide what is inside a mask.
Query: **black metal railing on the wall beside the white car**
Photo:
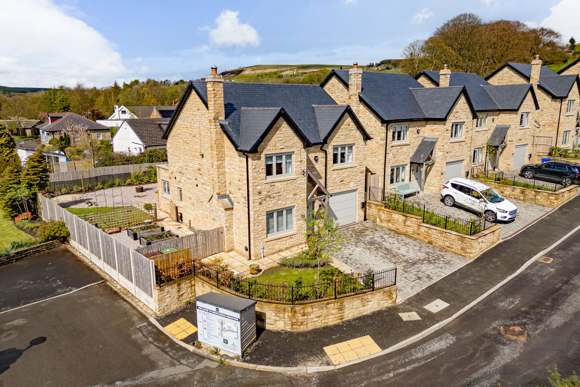
[[[423,223],[427,223],[427,225],[440,227],[441,229],[451,230],[466,235],[474,235],[495,226],[495,223],[487,222],[485,218],[480,216],[477,216],[476,218],[463,219],[458,216],[441,214],[427,208],[425,203],[414,200],[405,200],[405,198],[397,194],[385,195],[385,208],[403,212],[404,214],[421,216],[423,218]]]

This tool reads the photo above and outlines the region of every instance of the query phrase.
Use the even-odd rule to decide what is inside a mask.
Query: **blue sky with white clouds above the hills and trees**
[[[580,27],[578,0],[109,1],[19,0],[4,20],[20,30],[0,42],[0,85],[104,86],[114,79],[194,79],[252,64],[361,64],[400,57],[462,12],[556,28]],[[3,6],[3,8],[5,8]],[[11,17],[14,16],[14,17]],[[49,21],[50,20],[50,21]],[[34,24],[38,23],[38,24]],[[3,64],[1,64],[3,63]]]

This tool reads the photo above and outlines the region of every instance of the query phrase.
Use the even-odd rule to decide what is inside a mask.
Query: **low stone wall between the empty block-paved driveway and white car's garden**
[[[473,259],[499,242],[501,227],[493,226],[473,236],[423,223],[421,216],[377,208],[376,223],[439,248]],[[368,218],[368,215],[367,215]]]

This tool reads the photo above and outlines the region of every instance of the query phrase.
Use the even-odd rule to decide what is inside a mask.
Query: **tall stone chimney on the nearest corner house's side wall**
[[[224,134],[219,120],[226,118],[223,106],[223,77],[218,67],[212,66],[212,73],[205,77],[208,91],[209,144],[212,158],[213,191],[218,195],[226,194],[226,155]]]

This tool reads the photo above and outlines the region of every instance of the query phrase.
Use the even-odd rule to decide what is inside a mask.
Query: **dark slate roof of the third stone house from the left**
[[[421,75],[439,85],[439,71],[423,70],[415,78]],[[536,108],[539,108],[534,88],[530,84],[491,85],[477,74],[454,71],[449,78],[449,86],[465,86],[476,111],[519,110],[530,89]]]

